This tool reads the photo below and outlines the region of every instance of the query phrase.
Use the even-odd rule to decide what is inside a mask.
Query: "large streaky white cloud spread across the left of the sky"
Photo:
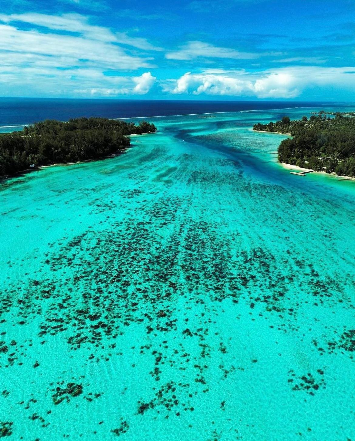
[[[33,29],[13,26],[17,20],[32,24]],[[0,14],[0,96],[8,96],[11,90],[22,90],[25,95],[28,88],[39,95],[49,90],[65,95],[79,89],[79,84],[81,90],[100,89],[104,95],[105,90],[115,90],[117,94],[146,93],[154,78],[150,72],[151,78],[143,74],[142,80],[105,75],[110,71],[155,67],[151,63],[153,58],[131,55],[120,47],[123,36],[127,45],[151,49],[143,38],[127,41],[127,34],[117,36],[108,28],[90,25],[77,14]]]

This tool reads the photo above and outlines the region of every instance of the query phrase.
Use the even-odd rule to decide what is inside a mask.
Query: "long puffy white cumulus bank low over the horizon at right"
[[[193,95],[246,96],[257,98],[295,98],[312,87],[336,86],[353,89],[353,67],[296,66],[269,71],[207,70],[187,72],[176,80],[163,84],[165,92]]]

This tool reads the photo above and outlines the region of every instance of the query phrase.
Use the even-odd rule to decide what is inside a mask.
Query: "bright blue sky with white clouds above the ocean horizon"
[[[3,1],[0,96],[355,101],[355,1]]]

